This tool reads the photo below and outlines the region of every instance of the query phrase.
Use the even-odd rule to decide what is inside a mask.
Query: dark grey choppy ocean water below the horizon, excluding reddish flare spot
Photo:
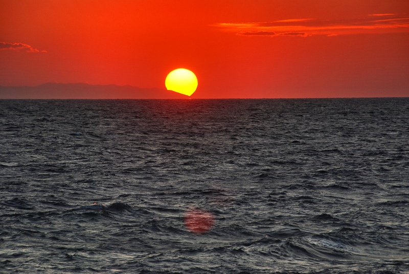
[[[0,272],[409,273],[409,98],[0,100]]]

